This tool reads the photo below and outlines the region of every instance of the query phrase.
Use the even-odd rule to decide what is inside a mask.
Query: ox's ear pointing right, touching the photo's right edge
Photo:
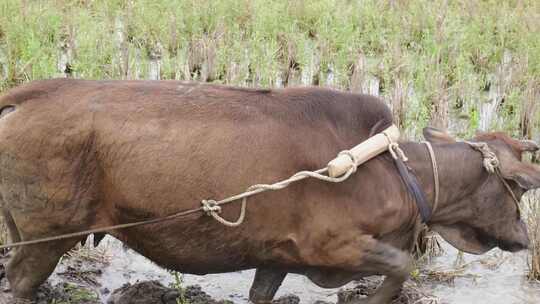
[[[506,179],[515,181],[522,189],[540,188],[540,166],[518,161],[501,163],[501,173]]]

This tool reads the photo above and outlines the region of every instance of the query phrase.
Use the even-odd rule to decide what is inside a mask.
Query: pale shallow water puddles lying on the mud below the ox
[[[459,266],[457,276],[449,282],[439,282],[428,277],[422,288],[437,296],[441,303],[448,304],[532,304],[540,303],[540,283],[528,283],[525,279],[527,255],[504,253],[493,250],[483,256],[463,255],[459,259],[458,251],[443,244],[444,254],[434,258],[429,266],[437,273],[454,271]],[[131,250],[122,248],[122,244],[112,238],[106,238],[98,250],[105,253],[106,266],[99,276],[98,283],[112,291],[125,283],[144,280],[159,280],[167,285],[173,282],[173,276],[166,270],[153,264]],[[57,273],[62,271],[62,265]],[[217,275],[184,275],[184,284],[201,285],[204,291],[216,299],[232,300],[235,303],[247,303],[247,294],[254,271],[241,271]],[[421,276],[424,277],[424,276]],[[54,275],[51,281],[61,278]],[[322,289],[303,276],[289,275],[277,296],[295,294],[302,303],[314,303],[322,300],[335,303],[338,289]],[[103,302],[108,294],[102,293]]]

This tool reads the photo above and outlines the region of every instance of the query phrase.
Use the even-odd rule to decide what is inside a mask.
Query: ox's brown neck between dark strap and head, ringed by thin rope
[[[431,159],[424,144],[403,143],[401,147],[409,158],[408,165],[414,170],[422,189],[426,192],[433,210],[435,183]],[[460,202],[481,185],[487,174],[482,168],[479,153],[464,143],[433,144],[439,171],[439,202],[430,223],[456,221],[456,216],[467,216],[467,206]]]

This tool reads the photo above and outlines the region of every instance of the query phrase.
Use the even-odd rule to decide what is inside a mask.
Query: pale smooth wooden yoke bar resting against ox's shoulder
[[[383,134],[385,133],[385,134]],[[349,150],[354,156],[359,166],[373,157],[388,150],[390,141],[388,137],[395,142],[399,139],[399,129],[395,125],[390,126],[386,130],[378,133],[367,140],[363,141],[356,147]],[[353,161],[347,155],[340,155],[328,163],[328,175],[331,177],[337,177],[343,175],[353,165]]]

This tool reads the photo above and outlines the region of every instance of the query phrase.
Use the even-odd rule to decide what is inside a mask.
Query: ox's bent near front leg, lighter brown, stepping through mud
[[[396,247],[357,230],[327,231],[322,237],[295,239],[294,251],[309,266],[305,274],[324,288],[341,287],[353,279],[370,275],[386,276],[377,291],[351,304],[390,304],[412,269],[411,256]],[[331,236],[331,237],[328,237]]]

